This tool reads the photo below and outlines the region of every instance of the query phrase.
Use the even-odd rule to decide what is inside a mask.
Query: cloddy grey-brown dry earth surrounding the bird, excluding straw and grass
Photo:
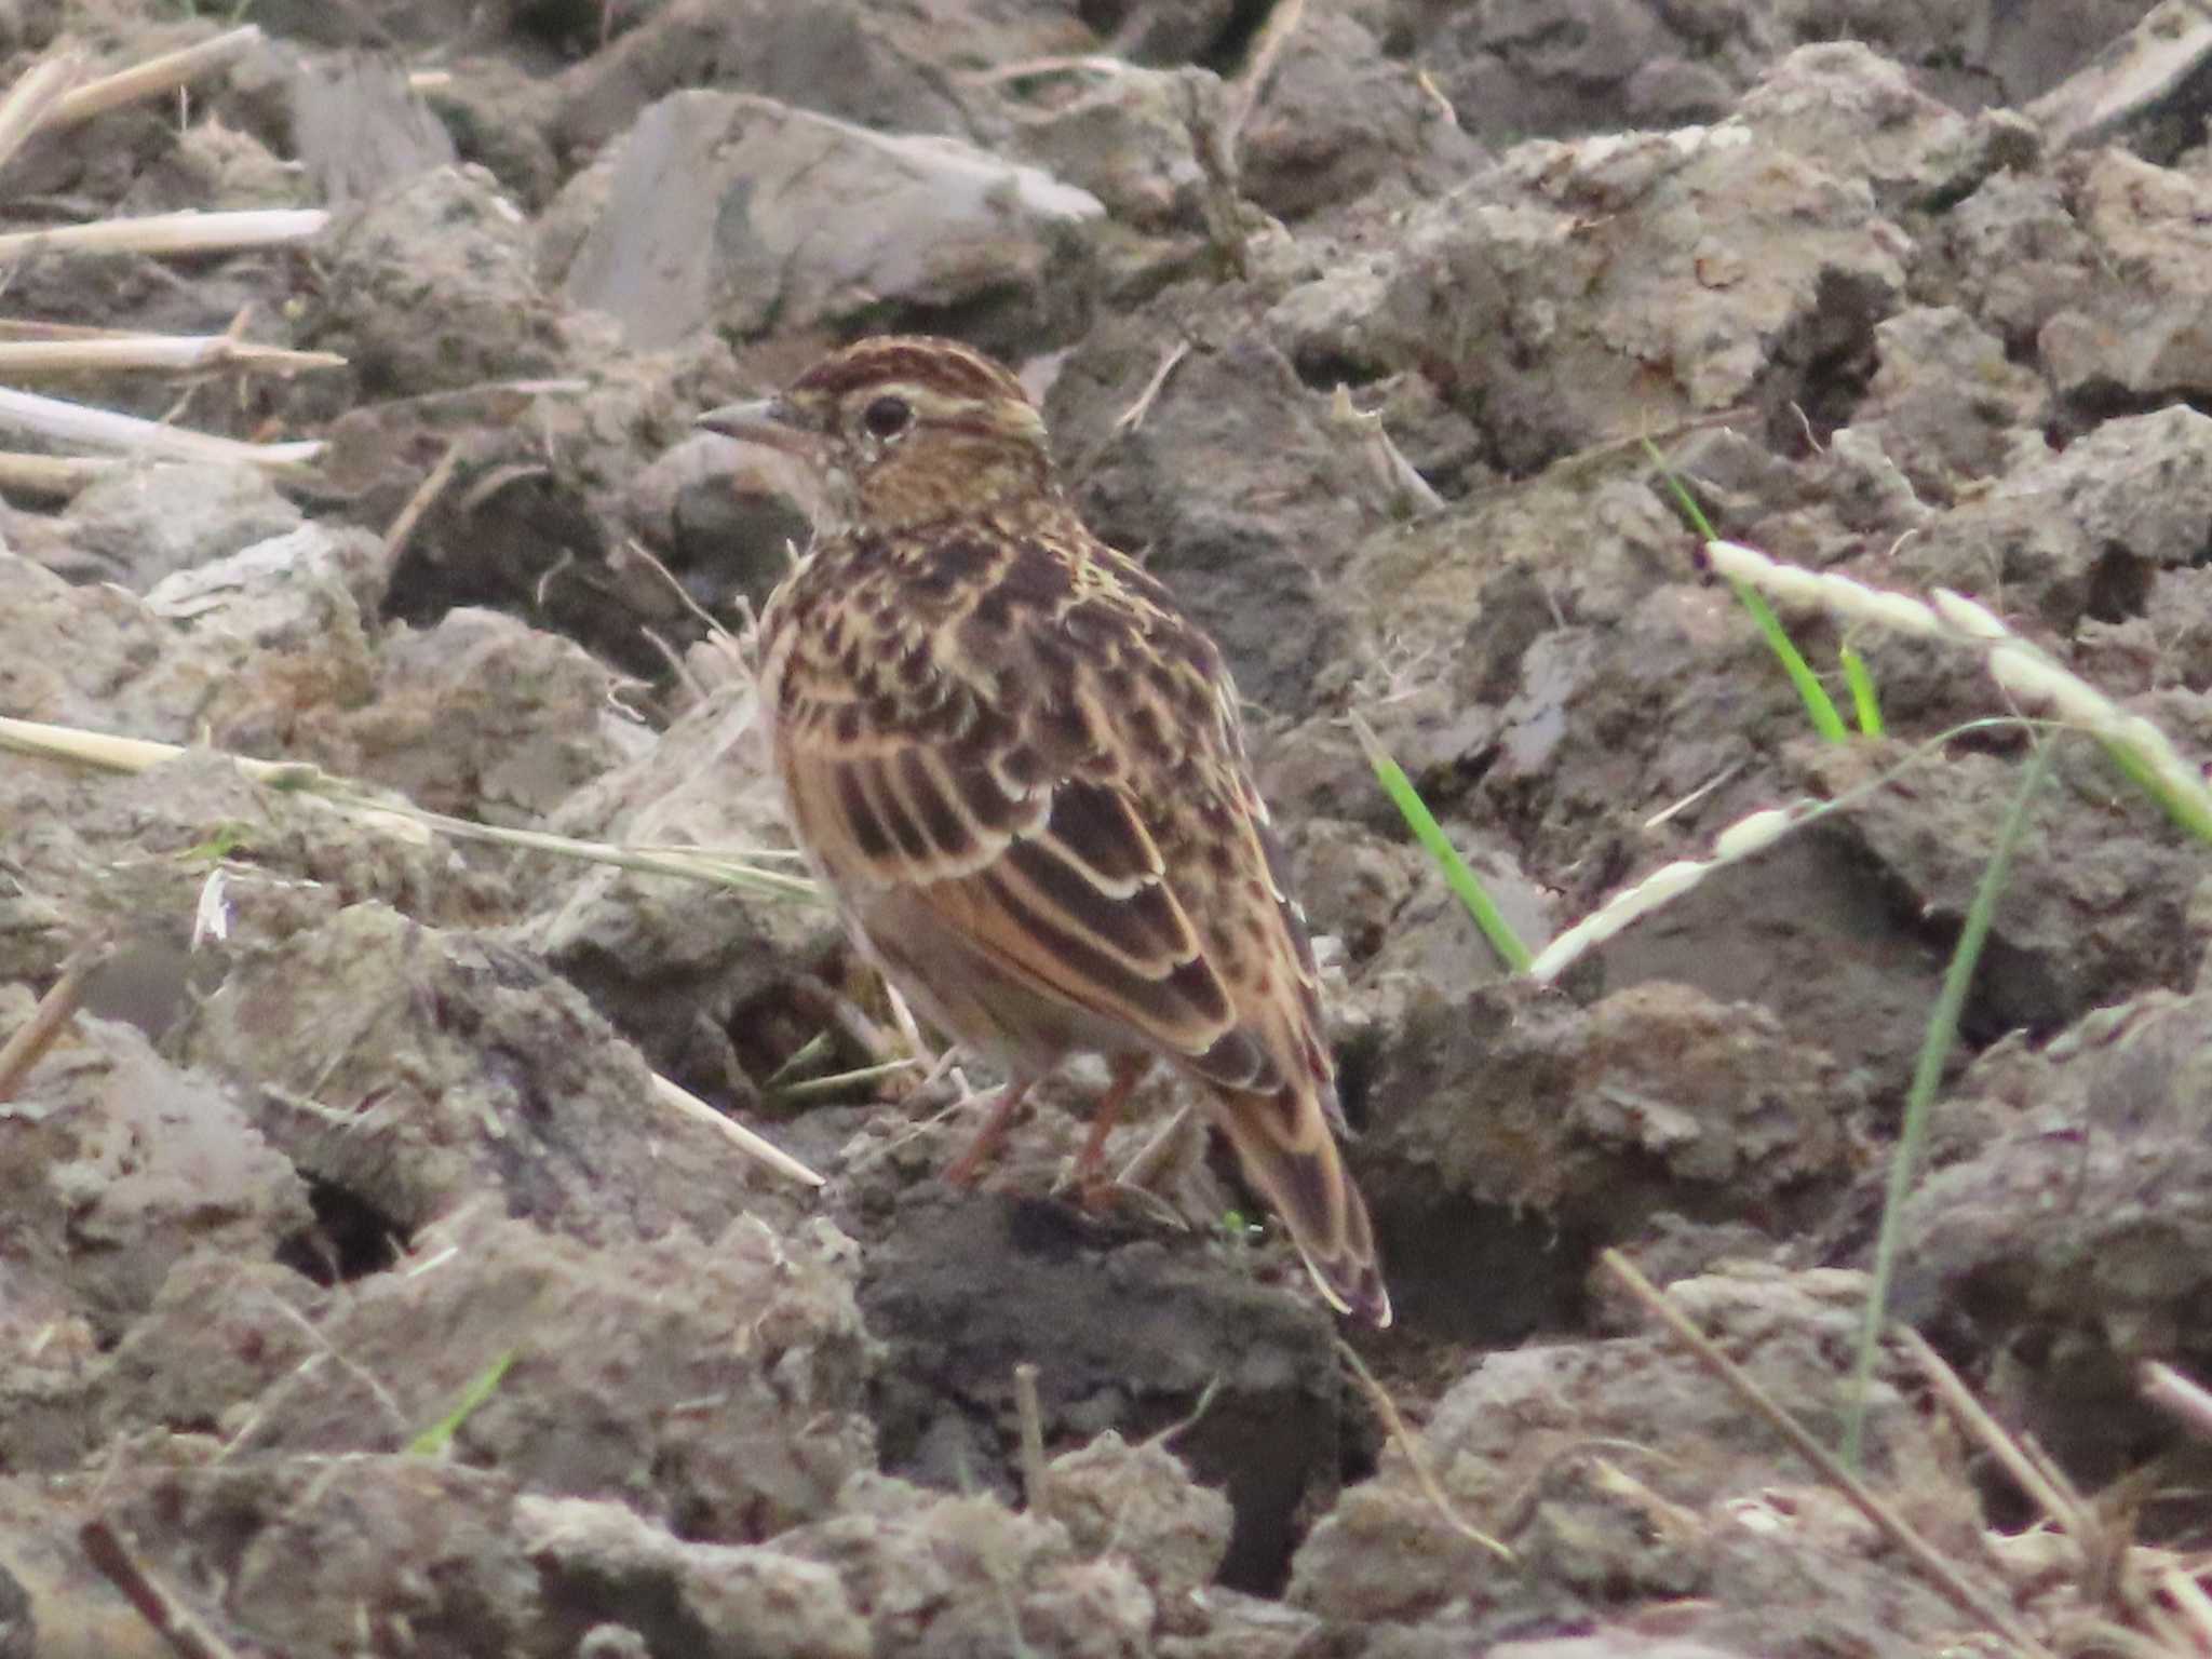
[[[9,0],[0,53],[95,75],[237,22]],[[4,334],[237,323],[343,358],[27,385],[319,440],[307,469],[0,484],[0,714],[190,750],[0,752],[0,1037],[104,945],[0,1104],[0,1659],[192,1652],[86,1524],[241,1657],[2194,1650],[2157,1635],[2172,1590],[2146,1613],[2037,1528],[1902,1345],[1867,1478],[1964,1597],[1597,1270],[1626,1252],[1840,1438],[1905,1088],[2024,759],[2017,726],[1944,737],[2006,712],[1971,653],[1785,608],[1880,695],[1887,737],[1818,741],[1646,440],[1723,535],[1975,595],[2212,754],[2192,11],[243,22],[184,97],[0,168],[7,232],[332,215],[259,250],[9,243]],[[845,1077],[900,1040],[821,907],[230,759],[495,827],[783,845],[706,619],[741,630],[814,500],[690,422],[876,330],[1020,365],[1086,520],[1228,650],[1325,940],[1391,1332],[1338,1332],[1188,1139],[1157,1206],[1053,1199],[1079,1066],[984,1190],[947,1188],[971,1113]],[[1537,989],[1352,714],[1537,942],[1747,812],[1845,805]],[[2212,865],[2093,741],[2051,759],[1893,1312],[2188,1571],[2203,1449],[2137,1367],[2212,1374]],[[1152,1079],[1113,1152],[1179,1104]]]

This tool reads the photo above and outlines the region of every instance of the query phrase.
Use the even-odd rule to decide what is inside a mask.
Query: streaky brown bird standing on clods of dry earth
[[[973,1181],[1077,1053],[1188,1077],[1323,1298],[1389,1325],[1305,914],[1221,648],[1086,529],[1022,383],[962,343],[869,336],[699,416],[814,473],[810,546],[759,613],[792,836],[860,953],[1006,1077]]]

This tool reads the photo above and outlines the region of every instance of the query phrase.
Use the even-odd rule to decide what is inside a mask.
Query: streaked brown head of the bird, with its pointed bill
[[[920,334],[847,345],[781,394],[699,425],[812,465],[841,526],[925,524],[1053,487],[1044,418],[1022,383]]]

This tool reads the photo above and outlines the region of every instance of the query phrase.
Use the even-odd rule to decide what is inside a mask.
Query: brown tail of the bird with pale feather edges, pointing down
[[[1389,1287],[1376,1234],[1345,1168],[1323,1104],[1312,1095],[1217,1095],[1214,1121],[1237,1148],[1245,1179],[1290,1228],[1329,1307],[1369,1325],[1389,1325]]]

